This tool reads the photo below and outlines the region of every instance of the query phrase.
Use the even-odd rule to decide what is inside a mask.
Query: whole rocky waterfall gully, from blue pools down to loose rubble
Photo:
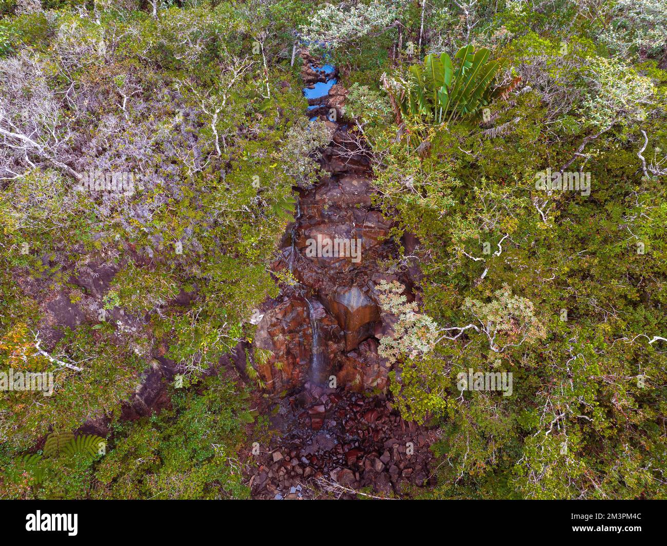
[[[271,400],[272,439],[257,456],[251,489],[255,498],[276,499],[408,493],[430,481],[434,433],[404,421],[388,396],[392,366],[378,346],[396,318],[378,304],[378,284],[397,280],[414,300],[418,271],[385,265],[399,248],[389,237],[392,222],[372,205],[371,161],[345,121],[346,90],[336,69],[301,56],[311,122],[329,127],[331,143],[318,182],[295,188],[295,221],[273,263],[296,282],[263,306],[253,342],[271,352],[255,367]],[[358,253],[313,255],[313,242],[319,250],[348,242]]]

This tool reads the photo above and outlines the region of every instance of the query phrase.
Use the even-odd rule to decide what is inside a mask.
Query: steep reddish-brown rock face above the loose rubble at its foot
[[[303,58],[305,83],[325,81],[315,61],[308,55]],[[354,390],[382,391],[388,386],[390,366],[378,355],[378,339],[391,334],[393,317],[380,311],[376,284],[398,278],[410,286],[410,280],[388,275],[380,265],[396,258],[398,247],[387,239],[392,222],[372,207],[370,162],[342,116],[346,93],[337,83],[327,96],[311,99],[327,112],[336,108],[340,115],[338,123],[324,115],[314,121],[334,131],[322,154],[325,174],[313,188],[299,188],[299,214],[288,226],[273,264],[274,270],[291,270],[300,284],[282,287],[254,340],[256,347],[273,353],[257,371],[275,394],[300,388],[307,380]],[[333,251],[327,252],[327,244]],[[319,380],[312,376],[315,356],[324,368]]]

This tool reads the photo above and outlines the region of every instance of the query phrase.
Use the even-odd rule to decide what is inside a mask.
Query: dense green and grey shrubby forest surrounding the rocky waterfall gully
[[[53,396],[0,393],[1,497],[249,495],[249,393],[201,376],[277,294],[291,188],[329,139],[306,127],[294,46],[340,69],[374,203],[418,240],[388,264],[420,266],[418,304],[383,285],[380,351],[404,417],[438,430],[425,495],[667,497],[664,0],[0,13],[0,370],[54,378]],[[133,178],[77,190],[91,169]],[[47,335],[56,298],[81,324]],[[187,388],[120,419],[155,354]],[[511,372],[512,395],[459,390],[469,369]],[[61,461],[47,435],[105,416],[104,453],[39,471]]]

